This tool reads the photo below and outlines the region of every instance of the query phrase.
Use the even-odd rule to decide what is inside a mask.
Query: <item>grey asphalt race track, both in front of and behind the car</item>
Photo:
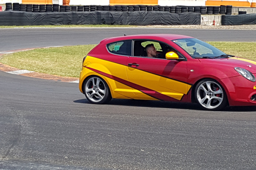
[[[253,32],[0,29],[0,53],[98,44],[106,37],[141,33],[256,41]],[[93,105],[79,92],[77,83],[2,71],[0,87],[0,169],[256,169],[256,107],[206,112],[195,104],[121,99]]]

